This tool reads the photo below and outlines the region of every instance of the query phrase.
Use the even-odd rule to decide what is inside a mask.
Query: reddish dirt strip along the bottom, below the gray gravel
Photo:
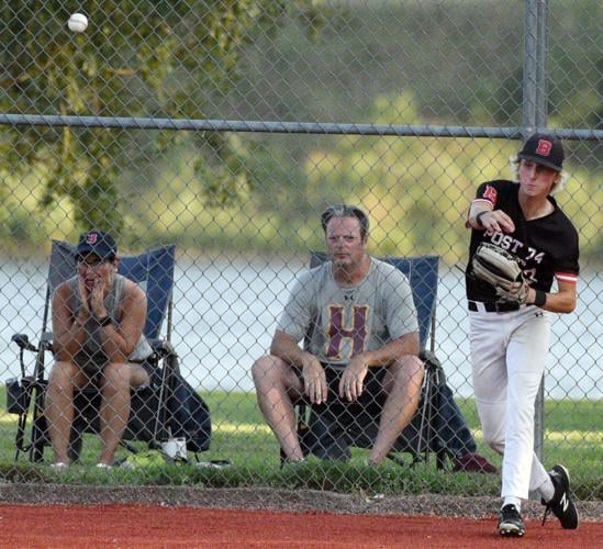
[[[336,515],[160,505],[0,505],[2,547],[502,547],[494,517]],[[526,547],[596,547],[603,524],[527,523]]]

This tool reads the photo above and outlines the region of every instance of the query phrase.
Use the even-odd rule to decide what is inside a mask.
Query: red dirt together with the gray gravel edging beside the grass
[[[493,497],[368,497],[311,490],[203,486],[0,485],[0,547],[412,547],[488,548]],[[522,547],[599,547],[603,502],[578,502],[581,525],[540,526],[524,505]]]

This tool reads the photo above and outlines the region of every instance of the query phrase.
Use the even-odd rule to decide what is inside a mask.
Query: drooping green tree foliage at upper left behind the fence
[[[212,98],[239,77],[237,64],[258,34],[272,33],[292,4],[308,0],[96,0],[90,25],[66,25],[68,2],[4,2],[0,8],[0,109],[10,113],[202,119]],[[168,132],[21,126],[0,141],[7,173],[43,179],[40,205],[67,198],[80,227],[119,231],[127,212],[124,169],[159,159],[185,136]],[[247,184],[232,137],[194,137],[193,161],[210,205],[237,199]],[[153,184],[153,180],[146,181]]]

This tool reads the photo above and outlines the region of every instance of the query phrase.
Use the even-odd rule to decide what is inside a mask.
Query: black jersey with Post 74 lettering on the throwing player
[[[490,203],[494,210],[502,210],[515,224],[514,233],[483,229],[471,231],[469,262],[466,269],[467,298],[473,301],[496,301],[491,284],[471,276],[471,260],[482,242],[493,244],[515,256],[524,276],[535,290],[550,291],[552,278],[576,282],[578,264],[578,232],[552,197],[548,200],[555,210],[544,217],[526,221],[518,200],[520,184],[496,180],[478,187],[473,202]]]

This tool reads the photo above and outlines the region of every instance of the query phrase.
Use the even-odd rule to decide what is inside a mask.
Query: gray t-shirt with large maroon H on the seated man
[[[321,362],[346,366],[359,352],[418,332],[418,324],[406,277],[371,258],[367,276],[355,287],[340,287],[333,279],[331,261],[302,273],[277,329],[297,341],[310,330],[312,355]]]

